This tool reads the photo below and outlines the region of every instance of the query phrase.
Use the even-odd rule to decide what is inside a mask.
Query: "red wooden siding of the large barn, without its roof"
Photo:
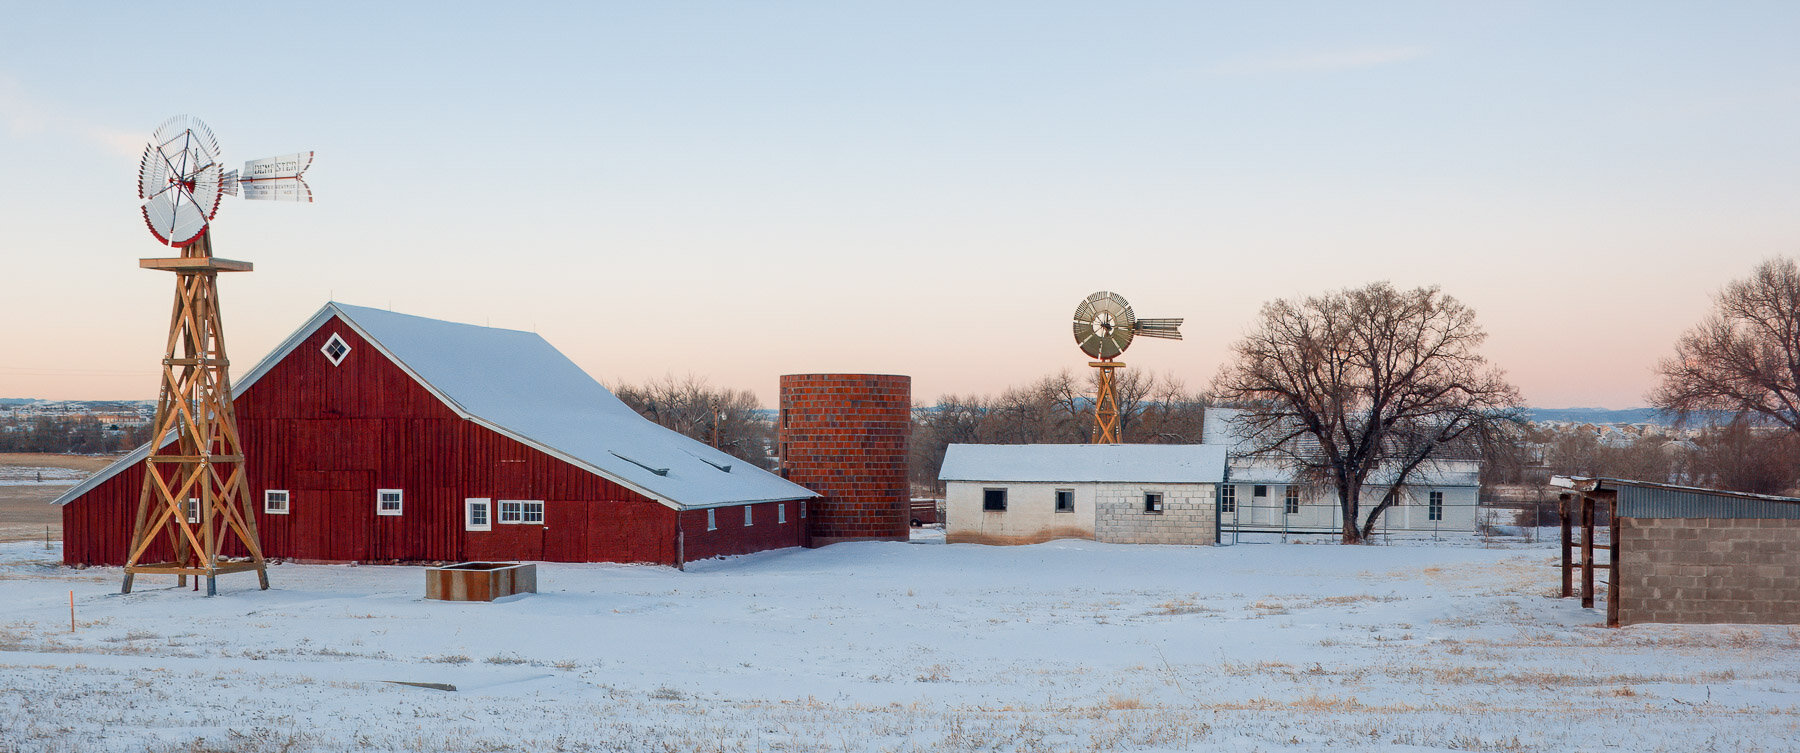
[[[319,353],[333,333],[351,346],[340,366]],[[266,557],[675,562],[673,510],[457,418],[338,319],[236,405]],[[137,465],[63,506],[67,564],[124,564],[142,477]],[[261,513],[270,488],[290,492],[288,515]],[[376,515],[378,488],[403,490],[401,515]],[[545,524],[495,521],[491,531],[464,531],[466,497],[493,499],[493,517],[500,499],[542,499]],[[742,508],[733,510],[742,522]],[[149,560],[167,557],[158,542]]]

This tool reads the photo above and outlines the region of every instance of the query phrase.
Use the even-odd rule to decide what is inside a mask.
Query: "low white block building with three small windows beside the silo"
[[[1213,544],[1224,470],[1217,445],[950,445],[945,537]]]

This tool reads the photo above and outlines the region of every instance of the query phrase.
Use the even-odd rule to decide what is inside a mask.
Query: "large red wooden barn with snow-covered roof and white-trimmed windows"
[[[234,395],[272,558],[682,564],[806,544],[814,492],[644,420],[536,333],[329,303]],[[124,564],[148,452],[56,501],[63,562]]]

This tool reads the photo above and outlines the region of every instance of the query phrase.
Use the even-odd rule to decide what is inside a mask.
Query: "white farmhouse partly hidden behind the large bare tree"
[[[1219,490],[1219,522],[1240,533],[1336,533],[1343,530],[1337,490],[1307,485],[1292,468],[1276,459],[1249,454],[1249,443],[1237,436],[1238,411],[1206,411],[1202,447],[1229,452],[1228,476]],[[1375,468],[1363,486],[1364,513],[1381,504],[1393,483],[1393,468]],[[1381,517],[1386,531],[1472,531],[1481,490],[1481,461],[1471,458],[1433,459],[1413,470],[1400,490],[1400,501]]]

